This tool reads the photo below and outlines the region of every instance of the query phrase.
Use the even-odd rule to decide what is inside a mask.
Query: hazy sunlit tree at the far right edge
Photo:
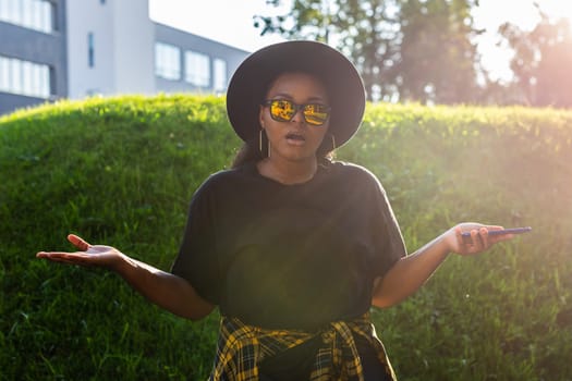
[[[540,12],[540,22],[531,32],[510,23],[501,25],[499,32],[514,50],[511,70],[525,102],[531,106],[572,107],[570,22],[565,19],[552,21]]]

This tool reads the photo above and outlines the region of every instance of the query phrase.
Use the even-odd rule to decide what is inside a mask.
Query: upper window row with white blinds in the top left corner
[[[51,33],[52,7],[47,0],[0,0],[0,21]]]

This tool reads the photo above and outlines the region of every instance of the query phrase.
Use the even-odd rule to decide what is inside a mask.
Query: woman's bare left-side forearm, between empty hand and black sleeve
[[[215,308],[183,278],[127,256],[123,256],[113,271],[148,300],[183,318],[198,320]]]

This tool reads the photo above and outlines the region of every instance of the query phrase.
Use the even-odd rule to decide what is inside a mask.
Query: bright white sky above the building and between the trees
[[[495,79],[509,79],[510,51],[498,47],[496,30],[504,22],[531,29],[538,21],[533,2],[550,16],[572,20],[572,1],[569,0],[480,0],[474,10],[475,26],[486,28],[478,42],[483,65]],[[277,35],[260,36],[254,27],[254,15],[281,14],[282,7],[268,5],[267,0],[149,0],[150,17],[161,24],[193,33],[215,41],[246,51],[283,40]]]

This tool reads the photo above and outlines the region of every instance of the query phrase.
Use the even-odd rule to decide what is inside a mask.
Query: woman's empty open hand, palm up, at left
[[[37,258],[45,258],[54,262],[80,266],[96,266],[113,270],[124,259],[124,255],[111,246],[90,245],[82,237],[70,234],[70,241],[78,251],[40,251],[36,254]]]

